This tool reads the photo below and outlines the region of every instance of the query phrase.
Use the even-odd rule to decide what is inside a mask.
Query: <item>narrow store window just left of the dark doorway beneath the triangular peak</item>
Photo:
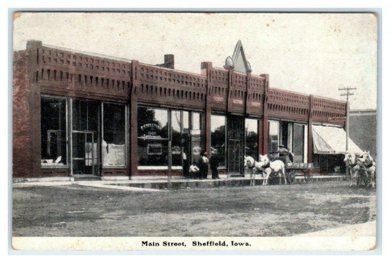
[[[216,155],[218,167],[226,167],[226,116],[211,115],[211,154]]]

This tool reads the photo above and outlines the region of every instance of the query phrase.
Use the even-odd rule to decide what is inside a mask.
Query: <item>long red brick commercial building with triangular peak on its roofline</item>
[[[40,41],[13,59],[14,179],[183,176],[203,150],[220,174],[242,175],[244,155],[282,144],[327,173],[342,154],[325,137],[344,132],[346,103],[270,88],[240,41],[200,74],[175,70],[173,55],[153,66]]]

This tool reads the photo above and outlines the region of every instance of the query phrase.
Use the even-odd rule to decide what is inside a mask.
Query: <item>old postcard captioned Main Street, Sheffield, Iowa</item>
[[[13,23],[15,250],[375,249],[376,14]]]

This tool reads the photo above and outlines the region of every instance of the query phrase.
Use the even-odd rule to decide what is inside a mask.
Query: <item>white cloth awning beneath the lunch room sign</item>
[[[312,125],[315,154],[345,154],[346,133],[343,128]],[[363,151],[348,138],[348,152],[360,155]]]

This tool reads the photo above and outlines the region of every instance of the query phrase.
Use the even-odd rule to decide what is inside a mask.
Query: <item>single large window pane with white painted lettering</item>
[[[138,165],[168,166],[168,110],[138,107]]]

